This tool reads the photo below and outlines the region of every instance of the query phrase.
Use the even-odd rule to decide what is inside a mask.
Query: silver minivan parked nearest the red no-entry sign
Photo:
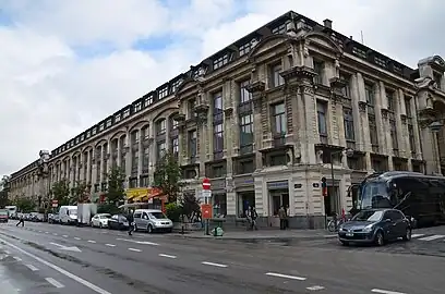
[[[136,209],[133,217],[135,231],[144,230],[148,233],[165,231],[170,233],[173,230],[173,222],[158,209]]]

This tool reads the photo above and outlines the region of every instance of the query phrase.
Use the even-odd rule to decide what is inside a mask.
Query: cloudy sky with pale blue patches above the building
[[[441,0],[0,0],[0,175],[289,10],[410,66],[445,56]]]

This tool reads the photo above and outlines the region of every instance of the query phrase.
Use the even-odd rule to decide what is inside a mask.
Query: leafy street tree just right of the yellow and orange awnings
[[[175,203],[184,186],[182,170],[177,157],[167,152],[156,163],[154,186],[159,187],[168,196],[169,203]]]

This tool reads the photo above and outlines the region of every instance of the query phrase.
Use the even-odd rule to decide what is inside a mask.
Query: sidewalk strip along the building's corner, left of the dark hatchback
[[[203,231],[176,233],[175,236],[201,240],[227,240],[239,242],[289,242],[298,240],[324,240],[336,237],[336,233],[326,230],[264,230],[264,231],[228,231],[222,236],[205,235]]]

